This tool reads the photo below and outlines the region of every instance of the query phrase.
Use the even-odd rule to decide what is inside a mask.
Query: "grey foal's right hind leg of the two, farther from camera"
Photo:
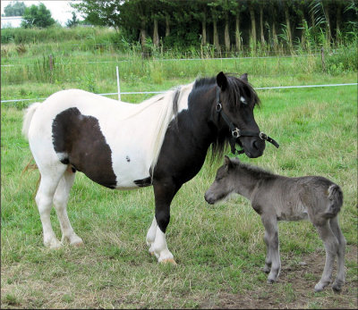
[[[339,228],[338,217],[330,219],[330,228],[335,234],[338,240],[338,251],[337,251],[337,277],[333,283],[332,289],[337,292],[342,289],[343,284],[345,283],[345,236],[343,236],[342,231]]]

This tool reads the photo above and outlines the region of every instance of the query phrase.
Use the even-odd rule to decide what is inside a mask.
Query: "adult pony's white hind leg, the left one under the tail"
[[[60,163],[47,169],[41,169],[41,167],[38,166],[38,169],[41,173],[41,180],[35,200],[38,205],[38,213],[42,223],[44,245],[50,248],[61,247],[61,242],[55,237],[55,232],[51,226],[50,213],[55,189],[64,174],[66,166]]]

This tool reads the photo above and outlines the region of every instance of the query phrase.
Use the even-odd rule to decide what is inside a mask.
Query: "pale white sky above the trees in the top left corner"
[[[1,13],[4,13],[4,7],[7,4],[11,4],[15,1],[3,1],[1,0]],[[51,12],[52,18],[55,21],[59,21],[61,25],[65,25],[66,21],[72,19],[72,7],[70,6],[70,3],[78,3],[81,1],[52,1],[52,0],[45,0],[45,1],[26,1],[22,0],[20,2],[23,2],[26,6],[31,6],[32,4],[38,5],[40,3],[43,3],[46,5],[47,10]],[[81,15],[77,13],[77,17],[82,20]]]

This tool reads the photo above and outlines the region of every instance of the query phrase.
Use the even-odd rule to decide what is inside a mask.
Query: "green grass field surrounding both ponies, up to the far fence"
[[[25,64],[19,66],[22,71],[17,67],[2,71],[2,100],[46,97],[63,88],[115,92],[115,63],[86,64],[89,58],[79,57],[82,64],[77,67],[74,61],[58,64],[57,79],[52,82],[30,66],[31,59],[20,59]],[[32,61],[40,62],[41,57]],[[61,58],[63,63],[70,61],[70,56]],[[14,62],[15,58],[7,61]],[[221,70],[248,72],[254,87],[356,82],[354,70],[318,71],[320,60],[314,57],[198,63],[132,59],[121,65],[122,91],[165,90]],[[262,90],[258,94],[262,106],[255,118],[280,148],[267,145],[260,158],[242,156],[242,160],[286,176],[322,175],[343,189],[339,222],[347,239],[346,283],[340,295],[330,287],[313,292],[325,253],[310,222],[280,222],[283,269],[276,284],[266,283],[266,274],[260,270],[265,257],[260,216],[243,197],[214,206],[204,200],[221,158],[216,163],[207,161],[172,203],[166,240],[176,267],[158,264],[148,253],[145,236],[154,214],[151,188],[113,191],[81,173],[72,188],[68,214],[85,247],[45,248],[33,199],[38,171],[22,173],[31,159],[28,143],[21,137],[21,108],[29,102],[22,102],[2,104],[1,307],[356,308],[357,88]],[[146,97],[127,95],[123,100],[138,103]],[[52,222],[61,237],[55,210]]]

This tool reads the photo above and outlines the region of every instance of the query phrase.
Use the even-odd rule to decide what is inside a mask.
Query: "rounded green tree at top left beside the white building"
[[[55,20],[51,17],[51,12],[47,10],[45,4],[32,4],[27,7],[22,15],[22,28],[47,28],[55,24]]]

